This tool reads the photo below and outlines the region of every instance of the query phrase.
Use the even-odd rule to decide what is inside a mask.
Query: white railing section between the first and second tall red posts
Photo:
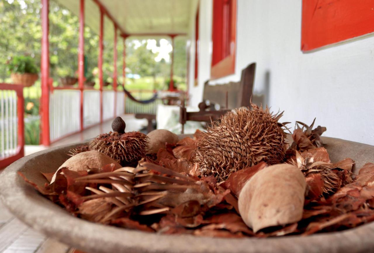
[[[80,91],[54,90],[49,95],[50,141],[78,131],[80,131]]]

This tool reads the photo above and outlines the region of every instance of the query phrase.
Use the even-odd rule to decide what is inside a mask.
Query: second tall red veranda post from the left
[[[79,10],[79,50],[78,50],[78,84],[80,89],[80,130],[83,131],[83,89],[85,67],[85,0],[80,0]]]

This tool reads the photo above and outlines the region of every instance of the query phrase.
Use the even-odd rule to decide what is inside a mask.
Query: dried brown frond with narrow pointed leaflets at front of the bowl
[[[102,223],[123,212],[128,215],[166,212],[175,206],[175,203],[170,205],[170,192],[182,194],[186,189],[200,187],[191,177],[151,163],[142,163],[138,168],[123,167],[113,172],[87,175],[75,180],[98,184],[97,188],[86,187],[92,194],[81,197],[80,201],[104,199],[115,206],[102,217]]]

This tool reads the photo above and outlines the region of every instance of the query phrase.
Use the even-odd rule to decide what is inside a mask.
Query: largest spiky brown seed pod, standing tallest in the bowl
[[[228,112],[203,133],[194,154],[203,175],[224,181],[236,170],[260,161],[283,162],[286,134],[284,124],[278,123],[283,112],[273,114],[254,104],[252,108]]]

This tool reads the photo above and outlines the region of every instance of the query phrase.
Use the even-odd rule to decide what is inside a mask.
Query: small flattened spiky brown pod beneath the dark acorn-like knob
[[[109,132],[99,135],[89,142],[89,149],[104,153],[122,166],[139,161],[145,156],[149,138],[141,132]]]

